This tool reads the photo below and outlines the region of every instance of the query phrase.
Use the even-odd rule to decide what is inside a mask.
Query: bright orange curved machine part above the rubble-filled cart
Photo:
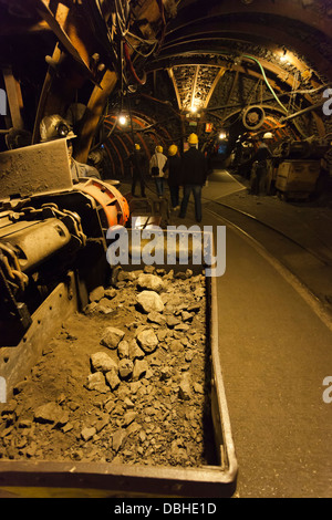
[[[90,178],[85,184],[76,185],[75,188],[96,200],[104,211],[108,227],[126,225],[129,218],[129,206],[114,186],[103,180]]]

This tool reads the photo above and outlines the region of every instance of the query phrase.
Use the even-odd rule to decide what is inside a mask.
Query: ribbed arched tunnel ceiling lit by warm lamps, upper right
[[[289,136],[303,138],[331,131],[322,111],[331,58],[331,1],[183,0],[147,70],[167,69],[179,111],[203,110],[220,125],[255,103],[277,126],[317,104],[287,125]]]

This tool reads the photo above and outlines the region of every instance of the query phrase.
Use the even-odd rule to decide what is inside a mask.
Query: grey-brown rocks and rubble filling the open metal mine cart
[[[138,274],[121,273],[115,288],[92,294],[85,313],[44,345],[2,412],[0,458],[211,462],[205,279],[160,271],[162,290],[148,290],[164,310],[147,313],[137,303]],[[123,333],[111,349],[101,343],[110,325]],[[156,344],[141,343],[143,331]],[[115,372],[96,367],[95,353],[111,357]]]

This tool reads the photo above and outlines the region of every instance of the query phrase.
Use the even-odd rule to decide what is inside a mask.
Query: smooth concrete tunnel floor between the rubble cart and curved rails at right
[[[246,197],[246,186],[217,171],[203,202],[234,194]],[[263,199],[274,204],[272,197]],[[186,220],[173,217],[172,223],[195,223],[193,208]],[[305,220],[308,208],[294,211]],[[317,221],[308,222],[307,236],[317,233]],[[225,222],[204,211],[203,226],[219,225]],[[332,376],[330,323],[278,262],[268,262],[229,226],[227,270],[217,287],[221,370],[239,465],[237,496],[332,497],[332,404],[323,401],[323,381]]]

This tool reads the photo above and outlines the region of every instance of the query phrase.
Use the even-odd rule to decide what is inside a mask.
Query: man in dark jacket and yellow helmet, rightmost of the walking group
[[[181,164],[181,185],[184,186],[184,198],[179,218],[185,218],[187,207],[193,191],[195,199],[196,221],[201,222],[201,188],[206,183],[208,169],[204,154],[197,149],[198,136],[191,134],[188,139],[189,149],[184,154]]]

